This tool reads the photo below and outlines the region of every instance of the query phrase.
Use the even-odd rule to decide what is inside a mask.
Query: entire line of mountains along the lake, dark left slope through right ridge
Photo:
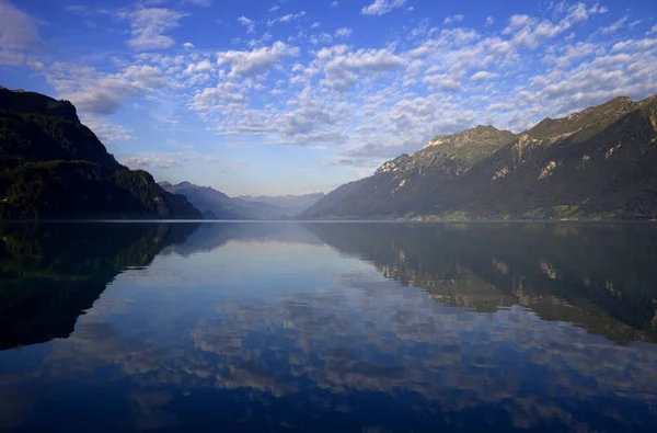
[[[615,98],[515,134],[437,136],[324,195],[155,183],[68,101],[0,87],[0,219],[656,219],[657,95]]]

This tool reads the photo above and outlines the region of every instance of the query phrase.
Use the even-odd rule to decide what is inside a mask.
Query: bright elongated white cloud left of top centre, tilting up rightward
[[[291,47],[283,42],[276,42],[270,47],[256,48],[251,52],[222,52],[217,53],[218,65],[231,66],[229,77],[251,76],[280,61],[285,57],[299,55],[299,48]]]

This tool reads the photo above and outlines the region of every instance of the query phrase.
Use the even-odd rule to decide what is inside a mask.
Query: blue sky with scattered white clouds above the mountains
[[[0,86],[124,164],[328,192],[436,135],[657,93],[657,1],[0,0]]]

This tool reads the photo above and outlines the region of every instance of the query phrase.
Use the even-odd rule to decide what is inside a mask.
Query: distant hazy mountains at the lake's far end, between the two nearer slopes
[[[316,203],[323,193],[307,195],[284,195],[257,197],[229,197],[210,186],[199,186],[189,182],[172,184],[160,182],[162,189],[173,194],[184,195],[189,203],[200,209],[209,219],[283,219],[290,218]]]

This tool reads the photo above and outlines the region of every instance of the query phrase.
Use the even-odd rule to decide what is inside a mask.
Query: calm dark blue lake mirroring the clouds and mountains
[[[657,429],[657,225],[0,239],[1,431]]]

